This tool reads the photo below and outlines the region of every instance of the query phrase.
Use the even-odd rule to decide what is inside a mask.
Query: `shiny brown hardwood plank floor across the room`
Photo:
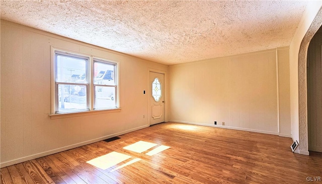
[[[119,137],[1,168],[1,183],[322,183],[322,153],[292,153],[291,138],[179,123]],[[138,141],[170,148],[123,149]],[[87,163],[113,151],[132,157],[107,169]]]

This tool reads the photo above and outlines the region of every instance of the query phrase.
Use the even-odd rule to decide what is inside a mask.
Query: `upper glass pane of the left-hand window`
[[[88,60],[70,56],[57,56],[56,82],[87,83],[86,65]]]

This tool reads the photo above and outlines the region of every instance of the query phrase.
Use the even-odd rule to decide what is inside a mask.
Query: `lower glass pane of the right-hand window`
[[[114,108],[115,87],[95,86],[95,108]]]

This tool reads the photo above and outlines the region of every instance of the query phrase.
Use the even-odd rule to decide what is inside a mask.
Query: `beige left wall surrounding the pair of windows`
[[[51,46],[119,61],[121,111],[51,120]],[[2,20],[1,166],[148,126],[149,69],[168,66]]]

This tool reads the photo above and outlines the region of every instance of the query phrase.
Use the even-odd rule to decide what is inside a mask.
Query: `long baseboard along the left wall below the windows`
[[[17,158],[17,159],[14,159],[14,160],[1,162],[0,163],[0,168],[10,166],[10,165],[13,165],[13,164],[17,164],[17,163],[21,163],[21,162],[28,161],[28,160],[40,158],[42,156],[58,153],[58,152],[65,151],[65,150],[68,150],[68,149],[72,149],[72,148],[75,148],[75,147],[84,146],[84,145],[87,145],[87,144],[91,144],[91,143],[98,142],[98,141],[101,141],[101,140],[105,140],[105,139],[108,139],[108,138],[111,138],[111,137],[123,135],[125,133],[129,133],[129,132],[136,131],[136,130],[146,128],[146,127],[148,127],[148,125],[132,128],[132,129],[129,129],[129,130],[126,130],[126,131],[106,135],[106,136],[103,136],[103,137],[99,137],[99,138],[84,141],[84,142],[79,142],[79,143],[76,143],[76,144],[60,147],[60,148],[57,148],[57,149],[53,149],[53,150],[49,150],[49,151],[45,151],[45,152],[41,152],[41,153],[37,153],[37,154],[32,154],[32,155]]]

